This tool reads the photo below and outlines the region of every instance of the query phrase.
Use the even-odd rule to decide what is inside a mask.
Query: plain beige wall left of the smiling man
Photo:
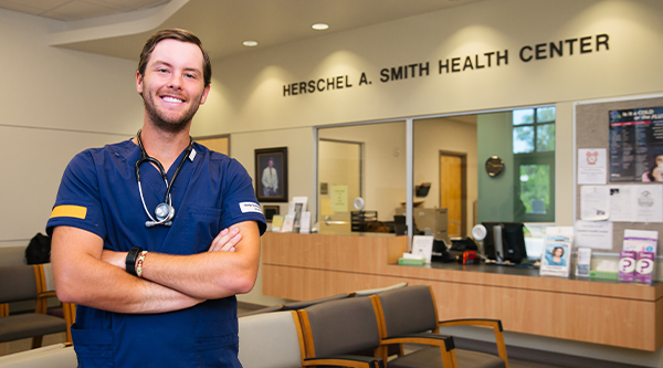
[[[133,62],[54,49],[60,22],[0,10],[0,246],[44,232],[62,172],[143,120]]]

